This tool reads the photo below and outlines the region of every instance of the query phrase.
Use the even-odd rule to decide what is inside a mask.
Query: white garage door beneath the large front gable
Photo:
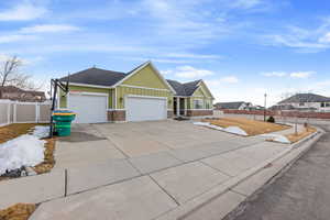
[[[128,121],[151,121],[167,118],[166,99],[161,97],[128,97],[125,107]]]

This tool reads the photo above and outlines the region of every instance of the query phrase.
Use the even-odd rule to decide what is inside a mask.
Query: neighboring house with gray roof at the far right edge
[[[297,94],[277,105],[278,109],[300,110],[300,111],[330,111],[330,98],[315,94]]]

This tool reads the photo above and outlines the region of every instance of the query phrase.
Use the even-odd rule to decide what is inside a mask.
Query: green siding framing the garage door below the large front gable
[[[138,96],[152,96],[152,97],[166,97],[167,98],[167,109],[173,109],[173,94],[166,90],[153,90],[153,89],[142,89],[142,88],[131,88],[124,86],[118,86],[117,91],[117,108],[124,109],[124,98],[127,95],[138,95]]]

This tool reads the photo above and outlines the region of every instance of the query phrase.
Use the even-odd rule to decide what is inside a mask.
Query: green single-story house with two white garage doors
[[[96,123],[210,116],[212,100],[202,80],[166,80],[146,62],[129,73],[92,67],[73,74],[69,94],[61,92],[58,106],[75,111],[77,123]]]

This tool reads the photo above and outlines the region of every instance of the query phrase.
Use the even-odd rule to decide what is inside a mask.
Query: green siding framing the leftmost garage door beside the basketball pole
[[[69,86],[70,91],[82,91],[82,92],[98,92],[98,94],[108,94],[109,95],[109,109],[114,108],[113,99],[114,99],[114,89],[107,88],[94,88],[94,87],[82,87],[82,86]],[[61,90],[59,92],[59,108],[67,108],[67,97],[64,96],[64,92]]]

